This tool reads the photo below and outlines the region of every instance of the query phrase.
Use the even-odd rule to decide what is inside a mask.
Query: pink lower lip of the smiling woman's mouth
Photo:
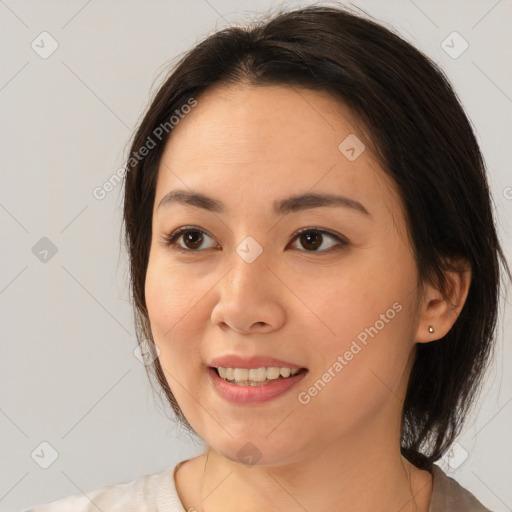
[[[265,384],[264,386],[238,386],[237,384],[231,384],[219,377],[213,368],[209,368],[208,373],[215,389],[222,398],[236,404],[254,404],[267,402],[283,395],[302,380],[306,376],[307,371],[301,371],[287,379],[275,379],[270,384]]]

